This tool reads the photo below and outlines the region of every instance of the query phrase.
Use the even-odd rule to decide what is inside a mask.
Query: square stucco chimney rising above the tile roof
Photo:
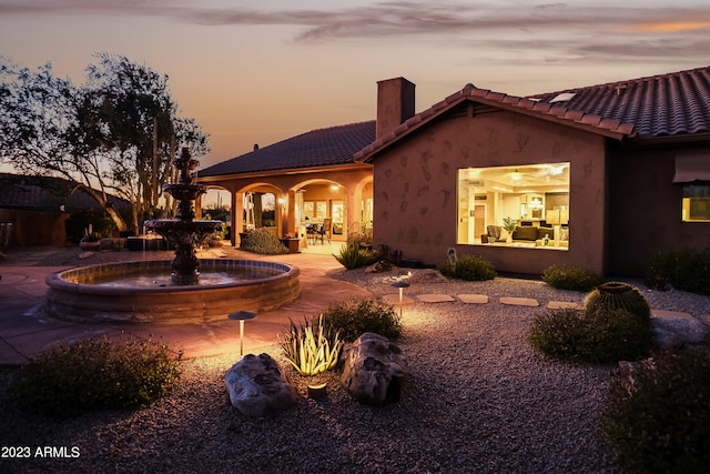
[[[377,134],[378,139],[397,125],[414,117],[414,88],[405,78],[377,82]]]

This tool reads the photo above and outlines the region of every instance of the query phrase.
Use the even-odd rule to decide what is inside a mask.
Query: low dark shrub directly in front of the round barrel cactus
[[[532,321],[528,342],[554,359],[613,363],[648,356],[655,349],[655,333],[622,309],[587,312],[550,310]]]

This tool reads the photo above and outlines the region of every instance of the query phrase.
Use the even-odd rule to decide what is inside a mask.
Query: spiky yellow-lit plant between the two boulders
[[[305,320],[291,326],[278,344],[291,365],[301,375],[315,375],[329,371],[337,365],[343,347],[343,341],[337,331],[325,324],[324,315],[317,317],[317,334],[314,331],[315,321]]]

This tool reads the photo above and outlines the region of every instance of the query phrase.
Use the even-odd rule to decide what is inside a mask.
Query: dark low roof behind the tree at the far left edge
[[[0,173],[0,209],[72,213],[99,205],[83,189],[71,191],[71,183],[60,178]],[[130,205],[114,195],[109,195],[109,202],[116,208]]]

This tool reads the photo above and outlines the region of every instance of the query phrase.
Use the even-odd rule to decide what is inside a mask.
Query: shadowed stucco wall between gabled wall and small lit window
[[[710,149],[708,149],[710,154]],[[641,275],[659,250],[710,249],[710,223],[682,222],[674,149],[622,150],[609,159],[609,270]]]

